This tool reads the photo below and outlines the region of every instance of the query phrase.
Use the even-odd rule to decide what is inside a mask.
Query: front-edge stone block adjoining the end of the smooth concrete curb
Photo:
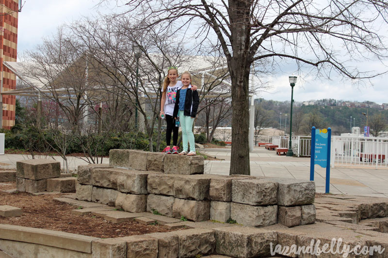
[[[122,238],[99,239],[92,242],[92,258],[127,258],[127,242]]]

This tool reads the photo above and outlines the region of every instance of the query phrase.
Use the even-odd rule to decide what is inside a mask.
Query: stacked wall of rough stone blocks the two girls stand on
[[[314,182],[204,175],[201,156],[111,150],[109,165],[80,166],[76,197],[127,212],[262,227],[315,222]]]

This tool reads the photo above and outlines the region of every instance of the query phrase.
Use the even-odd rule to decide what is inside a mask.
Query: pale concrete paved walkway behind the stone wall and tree
[[[205,173],[228,175],[230,167],[230,149],[205,149],[202,153],[211,157],[224,159],[222,161],[205,161]],[[49,158],[50,156],[36,157]],[[53,157],[61,162],[59,156]],[[31,159],[31,156],[20,154],[0,155],[0,167],[16,168],[16,161]],[[309,180],[310,159],[286,157],[276,155],[275,151],[265,150],[263,147],[255,148],[250,153],[251,175],[264,177],[283,177]],[[100,162],[100,160],[99,160]],[[109,164],[108,158],[103,158],[103,164]],[[77,158],[68,157],[70,170],[75,170],[79,165],[87,165],[88,162]],[[315,166],[315,184],[317,193],[325,191],[326,169]],[[388,168],[367,167],[335,167],[330,170],[330,193],[354,196],[388,197]]]

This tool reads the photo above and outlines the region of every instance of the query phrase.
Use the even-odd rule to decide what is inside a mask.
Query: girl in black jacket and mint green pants
[[[182,127],[182,143],[183,151],[179,155],[195,156],[195,143],[193,134],[194,118],[197,114],[199,105],[198,91],[191,91],[191,74],[184,72],[180,77],[183,86],[177,91],[174,117],[179,117]],[[188,143],[190,143],[190,152],[188,151]]]

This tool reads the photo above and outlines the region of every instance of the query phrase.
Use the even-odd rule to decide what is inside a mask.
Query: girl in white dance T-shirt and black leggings
[[[167,122],[166,129],[166,144],[167,147],[163,150],[166,154],[178,154],[179,147],[178,142],[178,130],[179,127],[175,126],[175,118],[173,117],[174,106],[177,96],[177,91],[182,88],[183,84],[178,81],[178,68],[176,66],[168,67],[167,76],[164,78],[162,87],[162,99],[161,99],[161,113],[165,116]],[[192,90],[195,91],[196,86],[192,86]],[[171,134],[173,133],[173,147],[171,148]]]

